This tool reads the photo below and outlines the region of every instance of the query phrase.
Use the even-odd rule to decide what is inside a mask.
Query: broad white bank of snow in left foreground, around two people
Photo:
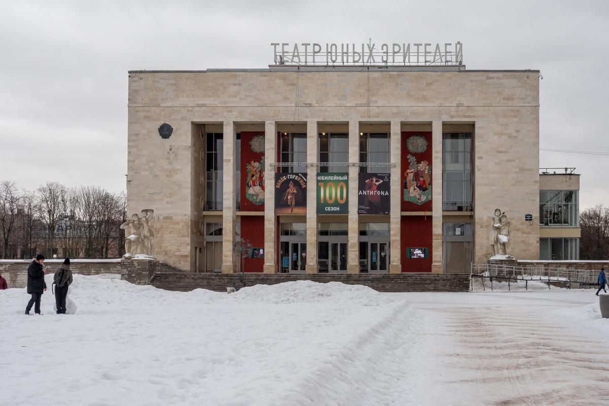
[[[338,386],[353,401],[343,371],[349,386],[376,388],[358,359],[392,359],[407,335],[408,306],[362,286],[300,281],[227,295],[74,275],[71,287],[74,315],[55,314],[50,289],[43,316],[23,314],[26,289],[0,291],[0,405],[304,406]],[[312,393],[315,382],[325,384]]]

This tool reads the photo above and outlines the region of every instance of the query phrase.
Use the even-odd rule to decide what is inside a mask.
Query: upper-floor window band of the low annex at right
[[[579,226],[579,195],[577,191],[540,191],[539,218],[541,226]]]

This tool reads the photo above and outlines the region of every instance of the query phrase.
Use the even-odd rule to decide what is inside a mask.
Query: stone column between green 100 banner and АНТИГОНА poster
[[[359,162],[359,121],[349,122],[349,163]],[[357,180],[359,166],[349,169],[349,217],[347,243],[347,273],[359,273],[359,216],[357,215]]]

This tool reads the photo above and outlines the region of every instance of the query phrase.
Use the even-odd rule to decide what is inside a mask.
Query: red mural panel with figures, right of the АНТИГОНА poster
[[[431,139],[431,131],[402,133],[403,211],[432,211]]]

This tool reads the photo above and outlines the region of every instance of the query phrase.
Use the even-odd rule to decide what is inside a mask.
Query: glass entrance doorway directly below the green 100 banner
[[[347,223],[319,223],[317,226],[319,272],[347,272]]]

